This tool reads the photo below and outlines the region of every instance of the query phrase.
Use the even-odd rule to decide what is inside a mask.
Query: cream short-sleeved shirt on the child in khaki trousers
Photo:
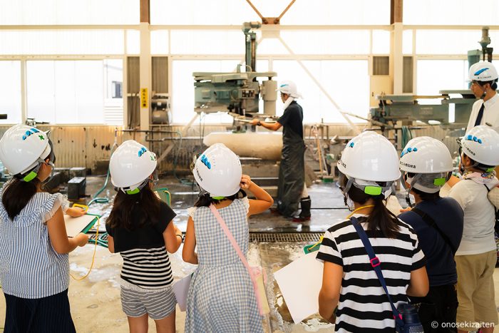
[[[449,197],[456,199],[464,211],[463,239],[456,255],[478,255],[496,249],[495,210],[487,194],[483,184],[471,179],[461,180],[451,189]]]

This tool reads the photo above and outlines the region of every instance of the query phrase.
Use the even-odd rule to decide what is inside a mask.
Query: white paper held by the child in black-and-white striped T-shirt
[[[274,272],[295,324],[319,312],[324,265],[315,259],[316,256],[317,252],[309,253]]]

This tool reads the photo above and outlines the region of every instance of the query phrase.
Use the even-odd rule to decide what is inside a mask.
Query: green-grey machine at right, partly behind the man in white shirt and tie
[[[468,51],[468,66],[480,61],[492,61],[493,48],[490,44],[488,27],[482,29],[482,39],[478,42],[481,50]],[[454,127],[465,127],[470,118],[471,107],[476,101],[470,90],[443,90],[438,96],[414,96],[414,95],[379,95],[377,108],[371,108],[371,120],[387,125],[395,125],[397,121],[436,121],[448,125],[449,113],[454,110]],[[423,99],[439,99],[441,103],[420,104]],[[462,133],[463,134],[463,133]]]

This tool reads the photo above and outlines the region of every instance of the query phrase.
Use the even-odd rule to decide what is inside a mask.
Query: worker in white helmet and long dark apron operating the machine
[[[277,212],[284,217],[292,217],[294,222],[310,220],[311,200],[305,185],[305,143],[303,140],[303,109],[295,99],[302,98],[297,85],[283,81],[277,91],[281,93],[284,113],[276,123],[266,123],[254,119],[251,124],[269,130],[282,130],[282,156],[279,168],[279,188],[277,193]],[[302,211],[295,214],[300,203]]]

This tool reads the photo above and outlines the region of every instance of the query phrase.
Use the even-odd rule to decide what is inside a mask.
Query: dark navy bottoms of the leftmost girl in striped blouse
[[[4,333],[76,333],[67,289],[36,299],[4,296],[7,307]]]

